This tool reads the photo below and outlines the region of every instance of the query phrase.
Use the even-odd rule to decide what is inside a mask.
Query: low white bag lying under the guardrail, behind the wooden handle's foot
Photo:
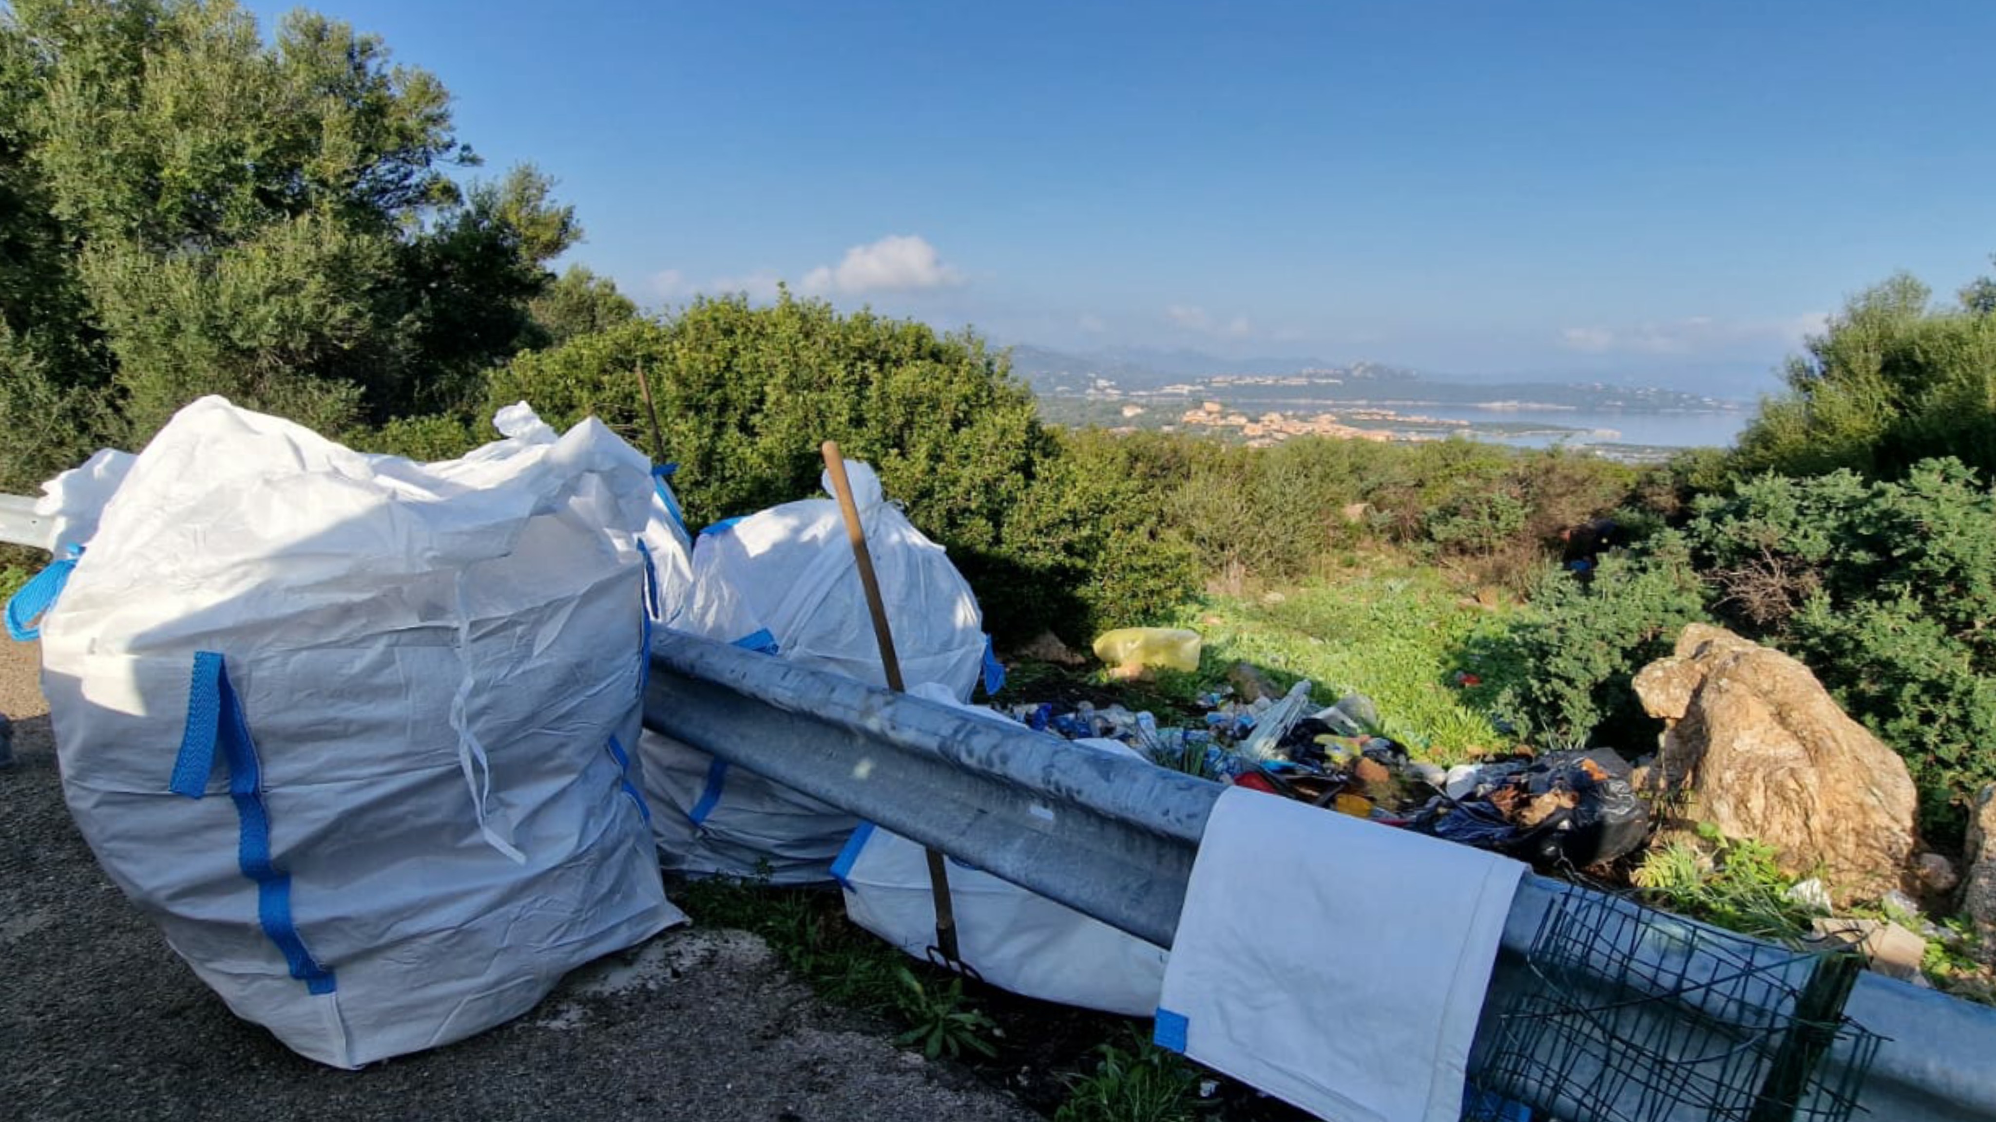
[[[1074,741],[1074,751],[1138,755],[1116,741]],[[1028,998],[1126,1016],[1150,1016],[1158,1008],[1168,950],[954,856],[946,866],[956,952],[986,982]],[[844,888],[852,922],[928,958],[936,942],[936,900],[920,844],[860,823],[832,862],[832,876]]]

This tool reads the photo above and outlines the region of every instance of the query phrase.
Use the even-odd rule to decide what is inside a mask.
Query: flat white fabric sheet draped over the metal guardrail
[[[1192,864],[1156,1040],[1333,1122],[1455,1122],[1523,870],[1230,787]]]

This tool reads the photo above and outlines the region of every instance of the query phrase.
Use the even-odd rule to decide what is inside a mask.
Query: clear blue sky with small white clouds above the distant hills
[[[1844,295],[1996,252],[1988,2],[321,10],[645,303],[1750,395]]]

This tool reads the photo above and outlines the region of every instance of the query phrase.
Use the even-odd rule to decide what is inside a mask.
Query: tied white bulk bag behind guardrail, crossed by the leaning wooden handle
[[[970,593],[948,553],[922,537],[880,493],[880,477],[846,461],[886,601],[902,679],[968,699],[996,663]],[[822,479],[830,495],[830,475]],[[834,499],[802,499],[707,527],[693,545],[693,595],[673,627],[780,659],[886,685],[866,593]],[[988,683],[996,689],[994,679]],[[776,884],[830,880],[832,858],[858,819],[733,769],[659,733],[645,733],[653,833],[667,868],[766,876]]]

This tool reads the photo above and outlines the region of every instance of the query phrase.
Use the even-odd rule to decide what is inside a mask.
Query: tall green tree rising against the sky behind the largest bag
[[[335,433],[457,405],[579,238],[531,168],[459,188],[443,86],[311,12],[265,44],[234,0],[16,0],[0,84],[0,403],[64,427],[0,483],[202,393]]]

